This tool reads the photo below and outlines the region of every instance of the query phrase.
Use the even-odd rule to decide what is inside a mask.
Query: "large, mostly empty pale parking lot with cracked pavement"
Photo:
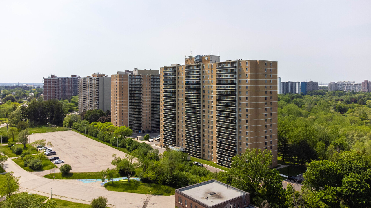
[[[111,161],[114,159],[112,154],[125,157],[125,153],[115,148],[109,147],[101,142],[92,140],[75,131],[58,131],[31,135],[30,141],[45,139],[51,141],[53,151],[57,155],[48,156],[59,157],[65,163],[70,164],[70,172],[96,172],[107,168],[114,168]]]

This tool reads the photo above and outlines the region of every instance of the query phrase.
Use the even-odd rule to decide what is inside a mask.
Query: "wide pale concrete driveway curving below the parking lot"
[[[100,187],[100,184],[83,183],[75,180],[53,180],[32,174],[20,168],[14,161],[7,160],[3,168],[7,172],[14,172],[15,176],[20,176],[20,191],[27,191],[50,197],[53,188],[53,198],[66,201],[90,204],[93,198],[104,196],[108,198],[108,204],[114,207],[137,208],[145,205],[147,207],[175,207],[175,196],[152,196],[148,198],[146,194],[135,194],[127,192],[107,191]],[[112,206],[112,207],[113,207]]]

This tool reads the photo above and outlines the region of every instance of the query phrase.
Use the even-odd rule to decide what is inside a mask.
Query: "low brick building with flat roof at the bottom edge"
[[[175,189],[179,208],[252,208],[250,193],[217,180],[204,181]]]

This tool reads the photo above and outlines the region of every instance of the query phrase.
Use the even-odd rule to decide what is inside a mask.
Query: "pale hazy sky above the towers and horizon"
[[[0,1],[0,83],[278,61],[282,81],[371,80],[371,1]]]

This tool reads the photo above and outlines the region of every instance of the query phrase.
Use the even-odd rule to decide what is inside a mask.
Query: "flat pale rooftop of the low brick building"
[[[209,207],[230,201],[242,195],[250,194],[217,180],[204,181],[187,187],[178,188],[177,191],[199,201]],[[211,198],[213,201],[211,201]]]

